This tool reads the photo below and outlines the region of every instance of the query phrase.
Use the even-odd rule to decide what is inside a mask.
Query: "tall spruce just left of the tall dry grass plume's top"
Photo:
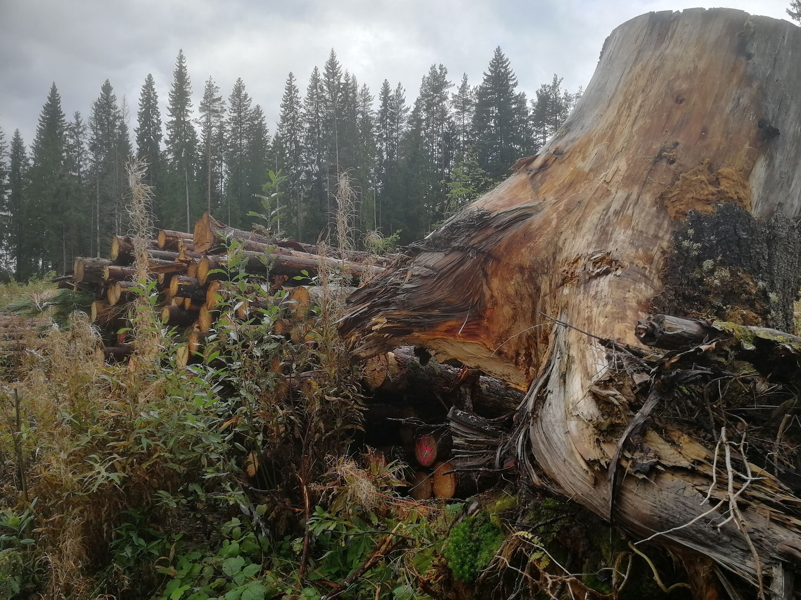
[[[100,87],[99,97],[92,102],[89,117],[89,150],[95,180],[92,223],[96,256],[101,256],[108,250],[107,240],[118,228],[115,210],[119,205],[118,146],[121,120],[117,96],[107,79]]]

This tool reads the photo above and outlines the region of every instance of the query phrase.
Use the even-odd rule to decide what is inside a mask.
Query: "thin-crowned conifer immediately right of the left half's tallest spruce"
[[[203,146],[199,165],[199,179],[205,190],[206,210],[215,212],[222,206],[223,182],[219,178],[219,162],[223,160],[223,147],[219,146],[220,130],[223,129],[225,104],[219,95],[219,87],[210,77],[203,88],[203,99],[198,110],[200,117],[200,143]]]

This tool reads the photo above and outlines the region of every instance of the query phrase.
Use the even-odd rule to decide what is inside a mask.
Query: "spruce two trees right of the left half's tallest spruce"
[[[245,91],[242,78],[237,78],[228,97],[226,121],[227,148],[225,165],[227,170],[226,203],[227,222],[239,226],[240,215],[247,205],[248,175],[250,171],[249,151],[252,125],[251,98]]]

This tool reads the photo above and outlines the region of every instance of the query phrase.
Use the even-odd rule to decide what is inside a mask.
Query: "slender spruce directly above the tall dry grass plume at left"
[[[147,162],[145,181],[153,193],[152,210],[157,223],[163,222],[164,162],[161,150],[161,110],[155,79],[148,73],[139,92],[139,110],[136,112],[136,155]]]

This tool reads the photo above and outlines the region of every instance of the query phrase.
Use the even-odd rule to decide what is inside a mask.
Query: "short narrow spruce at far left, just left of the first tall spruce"
[[[14,273],[18,281],[30,273],[30,252],[26,248],[26,232],[30,229],[28,219],[30,210],[26,210],[26,179],[30,162],[25,149],[25,142],[19,130],[14,130],[9,151],[8,199],[6,208],[9,216],[9,231],[6,248],[10,252],[14,264]]]

